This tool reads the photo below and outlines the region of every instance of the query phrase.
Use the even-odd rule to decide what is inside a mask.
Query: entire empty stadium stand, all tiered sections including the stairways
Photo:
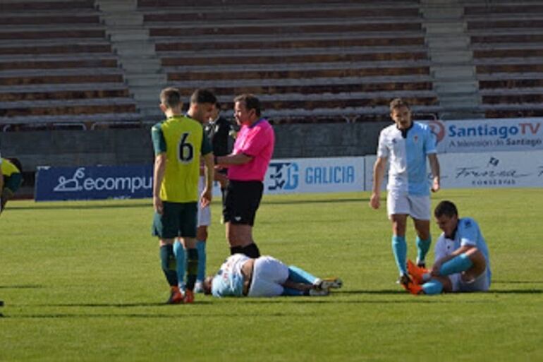
[[[140,126],[166,85],[275,123],[543,114],[541,0],[8,0],[0,126]]]

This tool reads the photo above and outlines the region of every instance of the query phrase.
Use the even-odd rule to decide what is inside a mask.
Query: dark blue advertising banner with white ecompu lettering
[[[152,164],[138,166],[38,167],[36,201],[150,198]]]

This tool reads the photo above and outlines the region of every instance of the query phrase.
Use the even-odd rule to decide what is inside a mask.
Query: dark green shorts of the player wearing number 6
[[[198,207],[197,203],[169,203],[164,201],[162,215],[154,212],[152,234],[161,239],[177,236],[196,237]]]

